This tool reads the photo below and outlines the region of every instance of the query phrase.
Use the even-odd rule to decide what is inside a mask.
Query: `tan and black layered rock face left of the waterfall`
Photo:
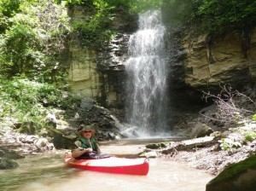
[[[116,10],[113,29],[118,33],[101,49],[81,45],[79,39],[69,43],[68,78],[71,89],[79,96],[92,98],[105,107],[123,107],[125,55],[129,34],[136,31],[135,15]],[[72,21],[86,21],[90,13],[81,7],[69,10]]]

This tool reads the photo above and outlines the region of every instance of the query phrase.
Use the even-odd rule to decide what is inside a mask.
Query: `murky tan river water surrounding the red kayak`
[[[131,143],[131,142],[130,142]],[[138,142],[102,143],[106,153],[129,154],[143,150]],[[149,159],[147,176],[115,175],[68,168],[65,151],[19,159],[20,167],[0,171],[1,191],[204,191],[212,176],[168,159]]]

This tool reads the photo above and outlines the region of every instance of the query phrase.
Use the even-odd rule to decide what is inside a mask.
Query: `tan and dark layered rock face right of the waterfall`
[[[202,101],[203,91],[218,94],[224,84],[240,92],[255,86],[256,30],[246,52],[238,34],[209,40],[207,35],[193,37],[185,29],[168,27],[166,39],[169,96],[177,107],[207,104]]]

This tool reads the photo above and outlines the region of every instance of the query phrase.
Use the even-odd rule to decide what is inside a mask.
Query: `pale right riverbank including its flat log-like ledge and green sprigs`
[[[146,145],[146,152],[156,152],[158,157],[181,162],[189,167],[207,171],[214,176],[228,165],[247,159],[256,153],[256,124],[247,124],[210,136],[178,142],[158,142]]]

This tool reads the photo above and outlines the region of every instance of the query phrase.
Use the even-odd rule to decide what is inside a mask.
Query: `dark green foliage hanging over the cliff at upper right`
[[[177,15],[173,17],[194,26],[196,32],[215,36],[247,31],[256,22],[254,0],[173,0],[165,1],[164,6],[175,10]]]

